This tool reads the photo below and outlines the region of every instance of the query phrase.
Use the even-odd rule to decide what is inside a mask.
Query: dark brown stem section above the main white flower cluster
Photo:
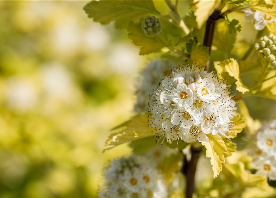
[[[223,16],[220,15],[220,12],[214,11],[213,14],[209,16],[206,22],[206,30],[205,30],[203,45],[209,48],[209,58],[204,68],[205,71],[208,71],[210,67],[210,54],[211,54],[211,46],[214,38],[215,23],[216,23],[216,20],[221,18],[223,18]]]

